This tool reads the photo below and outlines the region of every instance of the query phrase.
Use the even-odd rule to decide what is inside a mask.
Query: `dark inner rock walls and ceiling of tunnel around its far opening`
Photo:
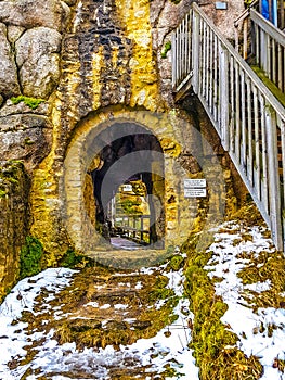
[[[116,227],[113,216],[108,215],[115,194],[124,183],[134,186],[141,181],[145,186],[144,198],[150,213],[148,245],[163,248],[165,165],[163,149],[156,136],[138,123],[116,122],[90,141],[88,149],[91,156],[95,154],[87,170],[83,194],[92,225],[108,240],[108,229]],[[140,199],[139,195],[135,198]],[[128,213],[126,211],[125,215],[130,216],[131,210]]]

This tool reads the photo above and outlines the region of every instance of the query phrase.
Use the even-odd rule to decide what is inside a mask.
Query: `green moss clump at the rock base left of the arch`
[[[20,253],[20,278],[35,276],[41,271],[43,248],[34,237],[26,237],[26,244]]]

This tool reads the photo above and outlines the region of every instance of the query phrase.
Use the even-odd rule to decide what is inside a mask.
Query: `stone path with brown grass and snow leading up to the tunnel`
[[[27,344],[26,354],[8,364],[9,379],[180,378],[192,357],[190,312],[181,275],[164,270],[85,268],[57,291],[42,275],[47,287],[40,286],[33,309],[12,324],[15,339],[21,334]],[[60,268],[56,276],[63,278]],[[28,279],[16,302],[25,302],[25,287],[30,291],[38,281]]]

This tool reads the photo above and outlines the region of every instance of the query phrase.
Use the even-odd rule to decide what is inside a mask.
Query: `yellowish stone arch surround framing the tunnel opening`
[[[184,197],[183,180],[195,178],[195,174],[184,167],[183,160],[187,152],[197,157],[203,174],[208,183],[208,211],[207,225],[215,224],[223,213],[223,175],[218,161],[213,161],[215,153],[211,147],[203,138],[199,131],[174,114],[157,114],[147,111],[133,111],[129,109],[112,107],[99,113],[91,113],[81,119],[74,129],[67,150],[60,150],[63,156],[52,152],[42,167],[37,170],[33,187],[33,207],[35,223],[33,233],[43,243],[48,252],[61,255],[63,250],[59,243],[61,236],[65,233],[68,244],[76,251],[90,255],[95,259],[106,257],[115,263],[117,257],[124,256],[118,252],[114,259],[114,252],[106,240],[95,229],[96,215],[91,202],[86,202],[87,193],[92,192],[92,181],[88,172],[92,168],[92,162],[104,148],[99,136],[113,125],[134,124],[147,130],[156,137],[163,155],[164,178],[159,172],[159,160],[154,160],[152,166],[152,182],[159,192],[161,180],[164,181],[164,230],[160,233],[164,249],[143,250],[141,257],[153,255],[157,257],[171,253],[174,246],[182,244],[189,233],[195,228],[198,214],[199,200]],[[117,127],[118,132],[126,132]],[[117,136],[120,138],[121,136]],[[114,137],[112,137],[114,139]],[[131,152],[130,154],[134,154]],[[130,159],[131,156],[128,155]],[[61,159],[61,161],[59,161]],[[161,160],[160,160],[161,162]],[[56,163],[56,173],[53,165]],[[59,166],[60,164],[60,166]],[[157,167],[158,166],[158,167]],[[186,165],[187,166],[187,165]],[[55,166],[54,166],[55,167]],[[39,186],[40,185],[40,186]],[[161,224],[163,225],[163,224]],[[204,237],[204,235],[203,235]],[[109,251],[109,252],[108,252]],[[139,254],[139,252],[138,252]],[[126,254],[126,263],[130,255]],[[152,262],[154,263],[154,261]],[[127,265],[126,264],[126,265]],[[148,263],[150,264],[150,263]],[[125,264],[124,264],[125,265]]]

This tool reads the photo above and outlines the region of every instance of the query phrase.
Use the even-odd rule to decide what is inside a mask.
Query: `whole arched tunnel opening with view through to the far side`
[[[115,123],[95,140],[101,149],[88,174],[98,232],[114,248],[163,249],[165,175],[159,141],[133,123]]]

